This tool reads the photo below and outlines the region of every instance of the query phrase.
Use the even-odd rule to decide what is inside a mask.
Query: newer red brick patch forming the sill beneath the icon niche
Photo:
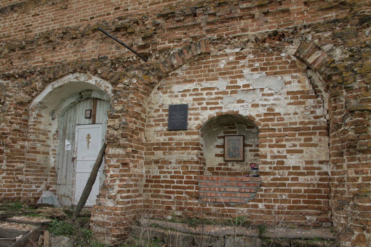
[[[261,177],[199,176],[201,202],[246,204],[256,196]]]

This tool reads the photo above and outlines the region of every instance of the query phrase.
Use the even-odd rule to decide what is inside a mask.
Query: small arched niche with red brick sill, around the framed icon
[[[257,124],[262,126],[251,115],[227,111],[210,115],[199,128],[204,165],[204,170],[198,176],[200,203],[234,206],[247,204],[256,197],[262,178],[246,175],[251,173],[251,164],[259,164],[259,151],[256,152],[256,149],[259,150]],[[223,136],[236,134],[245,135],[244,161],[222,161]]]

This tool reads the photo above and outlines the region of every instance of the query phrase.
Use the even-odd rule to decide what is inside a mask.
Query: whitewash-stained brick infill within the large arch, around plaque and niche
[[[199,129],[216,115],[240,114],[259,128],[262,184],[255,199],[231,210],[271,223],[282,217],[290,223],[330,226],[326,111],[298,67],[302,63],[260,44],[219,51],[215,46],[211,42],[210,56],[170,74],[148,99],[144,198],[154,208],[153,216],[197,213],[199,207],[208,211],[197,198],[197,175],[206,172],[207,163]],[[188,129],[168,131],[168,105],[185,103]],[[223,164],[221,149],[214,151],[213,166]],[[233,162],[227,163],[233,168]],[[249,164],[240,167],[239,176],[249,173]],[[213,209],[214,215],[222,211]]]

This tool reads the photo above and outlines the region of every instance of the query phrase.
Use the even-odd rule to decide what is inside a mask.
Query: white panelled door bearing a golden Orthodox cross
[[[102,124],[85,124],[76,126],[75,196],[73,204],[79,202],[96,157],[98,156],[99,150],[101,150],[103,144],[102,127]],[[104,159],[85,206],[93,206],[95,204],[96,196],[99,194],[99,177],[102,176],[102,168],[104,167],[103,163]]]

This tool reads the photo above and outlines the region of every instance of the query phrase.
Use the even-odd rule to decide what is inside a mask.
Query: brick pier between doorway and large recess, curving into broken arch
[[[136,73],[119,81],[114,88],[120,104],[112,110],[108,123],[111,128],[106,136],[106,164],[109,168],[99,203],[92,214],[93,230],[106,233],[104,236],[97,234],[101,241],[114,243],[122,239],[129,230],[130,220],[143,207],[145,100],[174,70],[208,53],[209,39],[190,42],[163,60],[134,67]],[[102,207],[104,205],[110,207]],[[108,217],[110,215],[118,217]]]

